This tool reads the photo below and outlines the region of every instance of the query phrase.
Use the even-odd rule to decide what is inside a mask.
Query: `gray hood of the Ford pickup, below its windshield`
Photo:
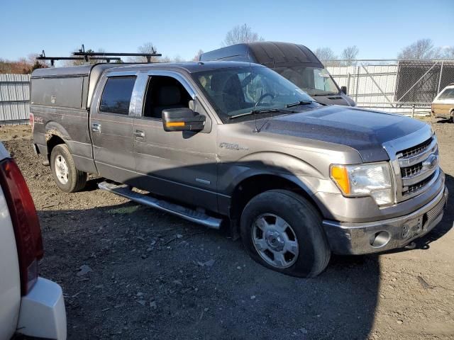
[[[363,162],[381,162],[389,160],[384,142],[409,135],[425,125],[403,115],[326,106],[274,117],[262,132],[346,145],[357,150]]]

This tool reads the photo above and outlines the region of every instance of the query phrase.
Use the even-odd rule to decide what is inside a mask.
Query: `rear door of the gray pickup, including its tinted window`
[[[107,179],[129,183],[135,177],[133,99],[137,72],[109,72],[92,104],[89,129],[94,162]]]

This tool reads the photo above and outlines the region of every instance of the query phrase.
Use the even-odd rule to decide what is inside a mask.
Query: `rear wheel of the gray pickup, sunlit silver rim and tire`
[[[65,193],[81,191],[87,183],[87,173],[77,170],[65,144],[56,145],[50,154],[50,169],[58,188]]]

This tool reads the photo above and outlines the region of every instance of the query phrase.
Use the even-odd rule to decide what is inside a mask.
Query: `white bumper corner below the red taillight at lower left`
[[[37,338],[66,339],[65,301],[60,285],[38,278],[21,299],[17,332]]]

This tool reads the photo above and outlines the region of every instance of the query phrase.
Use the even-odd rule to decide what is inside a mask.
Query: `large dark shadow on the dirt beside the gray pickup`
[[[367,339],[372,327],[377,256],[333,256],[306,280],[258,265],[227,232],[133,203],[39,215],[68,339]],[[93,271],[77,276],[82,265]]]

